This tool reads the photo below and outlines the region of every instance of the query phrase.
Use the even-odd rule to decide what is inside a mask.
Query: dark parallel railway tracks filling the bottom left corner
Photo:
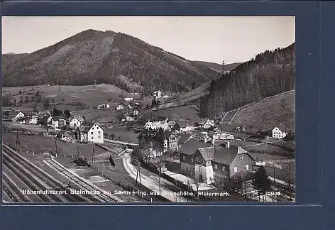
[[[80,195],[69,194],[65,185],[48,175],[48,173],[43,172],[43,170],[33,165],[33,163],[23,158],[14,150],[11,150],[8,146],[3,145],[2,153],[4,168],[11,172],[12,175],[15,175],[18,181],[25,187],[24,190],[32,191],[32,195],[38,197],[41,202],[87,201],[87,199]],[[27,194],[25,198],[18,196],[18,193],[23,195],[18,185],[15,185],[15,183],[6,176],[4,177],[4,182],[6,183],[7,189],[5,192],[8,192],[7,194],[11,194],[13,197],[16,194],[16,198],[13,199],[14,202],[27,202],[26,197],[28,197],[30,193]]]

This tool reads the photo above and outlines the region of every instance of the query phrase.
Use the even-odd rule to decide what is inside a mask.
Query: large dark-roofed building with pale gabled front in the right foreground
[[[199,182],[214,183],[217,179],[233,177],[238,172],[252,172],[253,158],[241,147],[212,146],[210,143],[190,138],[182,145],[180,169],[183,175]]]

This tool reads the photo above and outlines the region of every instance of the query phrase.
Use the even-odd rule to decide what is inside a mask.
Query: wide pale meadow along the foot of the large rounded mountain
[[[19,91],[21,90],[21,94]],[[20,101],[20,97],[23,99],[27,96],[30,100],[29,102],[24,102],[21,106],[16,109],[31,110],[33,107],[33,102],[31,102],[31,97],[33,97],[36,92],[39,92],[41,97],[50,99],[50,107],[56,105],[58,109],[70,109],[70,111],[78,109],[87,109],[89,106],[98,106],[99,104],[104,104],[106,100],[113,103],[119,103],[122,101],[119,94],[123,93],[124,97],[136,97],[138,95],[132,95],[119,87],[111,84],[95,84],[86,86],[72,86],[72,85],[41,85],[32,87],[3,87],[3,95],[11,95],[11,99],[16,99],[16,102]],[[109,103],[108,102],[108,103]],[[75,103],[80,103],[82,105],[75,105]],[[9,109],[8,107],[6,107]],[[38,109],[42,111],[44,108],[43,103],[38,104]],[[11,108],[13,109],[13,108]]]

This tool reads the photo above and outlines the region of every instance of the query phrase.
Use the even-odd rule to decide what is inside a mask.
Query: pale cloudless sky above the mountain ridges
[[[87,29],[115,31],[188,60],[246,62],[295,42],[294,16],[2,17],[2,53],[32,53]]]

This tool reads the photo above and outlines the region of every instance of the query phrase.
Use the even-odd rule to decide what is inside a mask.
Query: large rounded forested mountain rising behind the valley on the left
[[[11,56],[11,57],[9,57]],[[3,55],[3,86],[116,84],[128,92],[186,92],[219,73],[113,31],[88,30],[48,48]]]

